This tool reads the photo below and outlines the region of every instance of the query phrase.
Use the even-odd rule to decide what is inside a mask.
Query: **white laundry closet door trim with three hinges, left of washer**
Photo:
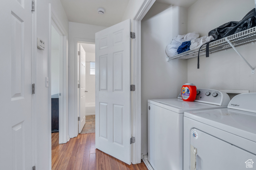
[[[132,21],[132,32],[135,32],[131,51],[131,84],[135,85],[132,96],[132,136],[135,136],[135,143],[132,144],[133,164],[141,163],[141,20],[155,1],[144,0]]]

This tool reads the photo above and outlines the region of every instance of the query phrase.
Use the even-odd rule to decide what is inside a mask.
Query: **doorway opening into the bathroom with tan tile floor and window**
[[[79,42],[78,46],[78,133],[95,133],[95,44]],[[79,92],[80,91],[80,92]]]

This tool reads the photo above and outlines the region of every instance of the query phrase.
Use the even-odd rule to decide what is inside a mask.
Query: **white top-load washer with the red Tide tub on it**
[[[197,89],[194,102],[183,101],[181,94],[148,100],[148,161],[154,170],[183,170],[185,111],[227,108],[229,101],[226,93],[212,89]]]

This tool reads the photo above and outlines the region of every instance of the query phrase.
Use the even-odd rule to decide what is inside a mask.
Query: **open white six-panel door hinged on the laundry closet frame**
[[[95,147],[131,164],[131,20],[95,34]]]

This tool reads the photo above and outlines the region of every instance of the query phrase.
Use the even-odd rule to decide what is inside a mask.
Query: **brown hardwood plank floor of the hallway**
[[[81,134],[59,144],[59,133],[52,133],[52,170],[147,170],[144,162],[128,165],[95,149],[95,133]]]

